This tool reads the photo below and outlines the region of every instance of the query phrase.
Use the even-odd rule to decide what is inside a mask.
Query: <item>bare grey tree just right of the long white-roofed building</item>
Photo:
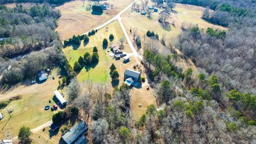
[[[73,78],[67,86],[68,102],[71,103],[80,94],[81,87],[76,78]]]

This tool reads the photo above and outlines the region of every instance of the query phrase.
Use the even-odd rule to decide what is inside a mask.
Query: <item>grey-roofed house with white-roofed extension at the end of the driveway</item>
[[[139,82],[140,81],[140,75],[141,75],[141,73],[139,71],[126,69],[124,71],[124,79],[125,79],[124,83],[130,86],[134,82]]]

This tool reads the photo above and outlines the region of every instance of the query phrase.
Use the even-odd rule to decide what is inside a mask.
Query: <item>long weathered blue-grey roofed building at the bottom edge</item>
[[[84,132],[86,132],[87,130],[88,130],[87,124],[81,121],[76,126],[71,128],[67,133],[65,133],[61,138],[66,143],[71,144],[76,140],[79,140],[84,134]]]

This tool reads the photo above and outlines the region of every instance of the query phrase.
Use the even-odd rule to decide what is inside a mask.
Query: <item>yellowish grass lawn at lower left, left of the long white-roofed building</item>
[[[50,76],[58,77],[58,70],[53,70]],[[23,125],[34,129],[49,121],[55,112],[44,110],[44,106],[54,105],[54,102],[49,103],[49,100],[52,100],[53,91],[57,90],[57,86],[58,79],[48,78],[42,84],[22,85],[1,94],[1,101],[8,100],[10,95],[21,95],[22,99],[12,101],[7,107],[0,110],[0,113],[4,116],[0,121],[0,139],[4,139],[8,131],[10,131],[11,137],[16,137],[20,127]],[[13,110],[11,118],[7,113],[7,109]]]

